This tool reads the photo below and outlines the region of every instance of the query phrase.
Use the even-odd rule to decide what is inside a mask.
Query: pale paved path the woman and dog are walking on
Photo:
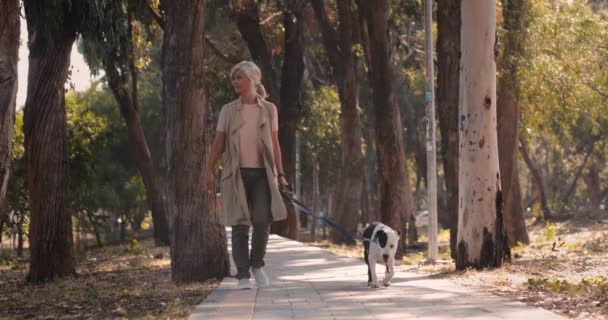
[[[276,235],[270,237],[266,265],[270,288],[239,290],[235,278],[226,278],[188,319],[566,319],[398,267],[390,287],[371,289],[362,259]]]

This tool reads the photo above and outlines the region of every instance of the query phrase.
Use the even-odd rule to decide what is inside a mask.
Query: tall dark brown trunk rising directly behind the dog
[[[388,47],[388,0],[359,1],[369,32],[370,83],[373,90],[378,158],[378,201],[380,220],[395,230],[402,217],[414,209],[408,172],[405,166],[401,115],[394,92],[393,67]],[[403,248],[397,249],[397,259]]]

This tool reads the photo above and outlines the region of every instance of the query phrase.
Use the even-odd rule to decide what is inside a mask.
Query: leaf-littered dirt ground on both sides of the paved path
[[[426,252],[412,250],[398,268],[449,278],[574,319],[608,319],[608,215],[529,225],[530,244],[513,247],[511,261],[499,269],[456,271],[447,230],[439,233],[444,263],[425,264]],[[419,240],[424,248],[424,230]],[[361,246],[312,244],[363,256]],[[0,250],[0,319],[181,319],[217,285],[173,284],[169,248],[156,248],[151,240],[89,250],[78,259],[77,277],[32,286],[23,281],[25,261]]]

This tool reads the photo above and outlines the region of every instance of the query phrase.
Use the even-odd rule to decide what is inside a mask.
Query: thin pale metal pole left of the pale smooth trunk
[[[428,260],[437,260],[437,160],[435,149],[435,69],[433,66],[433,1],[425,0],[424,36],[426,53],[426,159],[427,159],[427,203]]]

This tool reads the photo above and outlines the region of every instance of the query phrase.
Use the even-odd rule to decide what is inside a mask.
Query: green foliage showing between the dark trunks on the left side
[[[144,127],[157,127],[160,122],[160,98],[157,97],[160,84],[158,81],[151,83],[148,75],[142,78],[141,120]],[[149,211],[126,126],[114,97],[107,88],[93,83],[87,91],[69,92],[65,101],[70,205],[77,218],[75,221],[80,221],[83,228],[92,230],[93,225],[88,217],[94,216],[102,230],[109,231],[116,229],[116,218],[125,213],[133,223],[133,229],[138,230]],[[17,219],[23,216],[27,234],[29,213],[22,126],[23,115],[18,113],[8,204],[9,210],[17,214]],[[153,134],[157,135],[156,132]],[[102,240],[105,238],[102,234]]]

